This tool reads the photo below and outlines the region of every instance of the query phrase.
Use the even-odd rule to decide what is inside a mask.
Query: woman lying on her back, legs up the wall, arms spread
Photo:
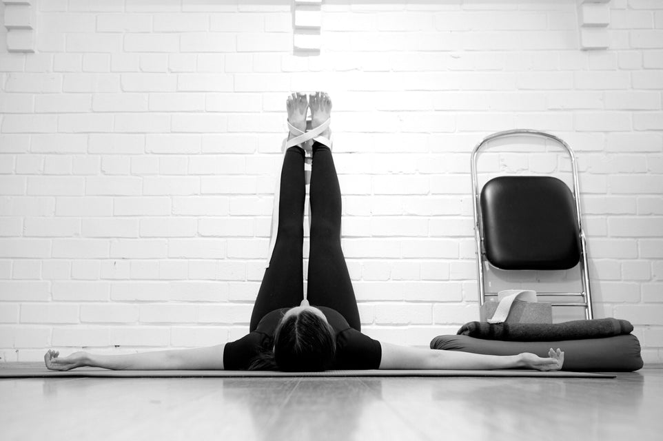
[[[312,130],[306,131],[306,114]],[[329,142],[332,101],[325,93],[292,94],[287,100],[291,139],[283,160],[278,227],[269,267],[254,305],[249,334],[227,344],[180,349],[59,357],[48,351],[48,369],[538,369],[562,368],[564,353],[489,356],[390,345],[361,333],[359,311],[340,247],[340,187]],[[313,137],[311,233],[307,298],[303,298],[304,158]],[[310,302],[310,303],[309,303]],[[312,306],[315,305],[315,306]]]

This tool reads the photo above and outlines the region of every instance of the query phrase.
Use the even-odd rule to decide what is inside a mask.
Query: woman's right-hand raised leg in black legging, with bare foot
[[[309,96],[312,127],[329,119],[332,101],[325,93]],[[322,136],[329,138],[329,133]],[[332,151],[313,145],[311,173],[311,252],[307,300],[313,306],[336,309],[351,327],[361,330],[357,300],[340,247],[340,185]]]

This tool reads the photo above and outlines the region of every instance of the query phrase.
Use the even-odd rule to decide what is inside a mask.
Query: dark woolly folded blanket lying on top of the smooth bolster
[[[493,324],[469,322],[462,325],[456,334],[483,338],[484,340],[537,342],[603,338],[631,334],[631,331],[633,331],[633,325],[627,320],[595,318],[593,320],[572,320],[553,325],[544,323]]]

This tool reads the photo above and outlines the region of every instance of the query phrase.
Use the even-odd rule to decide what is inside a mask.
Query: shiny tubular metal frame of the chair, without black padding
[[[555,141],[560,144],[564,150],[569,154],[571,158],[571,174],[573,175],[573,199],[575,200],[575,213],[578,218],[578,232],[579,232],[579,243],[580,243],[580,260],[578,264],[580,265],[580,279],[582,282],[582,291],[580,293],[542,293],[542,296],[581,296],[582,302],[552,302],[553,306],[560,307],[584,307],[584,313],[586,319],[593,318],[593,309],[591,305],[591,289],[589,286],[589,272],[588,272],[588,263],[587,263],[587,250],[586,250],[586,238],[584,231],[582,230],[582,217],[580,216],[580,198],[578,196],[578,166],[575,161],[575,154],[571,147],[562,139],[546,132],[539,132],[536,130],[507,130],[504,132],[493,133],[484,139],[474,147],[472,151],[471,158],[471,174],[472,174],[472,196],[474,198],[473,210],[474,210],[474,239],[476,241],[476,253],[477,253],[477,276],[478,276],[478,285],[479,285],[479,305],[483,305],[486,301],[486,296],[496,296],[497,293],[487,293],[484,287],[484,261],[488,261],[486,258],[486,253],[484,249],[484,238],[482,232],[482,225],[480,220],[480,215],[482,214],[479,201],[479,188],[478,188],[478,177],[477,177],[477,159],[479,151],[484,145],[489,141],[494,141],[496,139],[502,139],[512,136],[533,136],[539,139],[546,139]]]

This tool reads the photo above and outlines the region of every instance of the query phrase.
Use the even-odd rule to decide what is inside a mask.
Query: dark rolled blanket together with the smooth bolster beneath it
[[[456,336],[433,338],[431,349],[547,357],[552,347],[564,351],[565,371],[636,371],[643,363],[632,331],[629,321],[616,318],[555,324],[469,322]]]

